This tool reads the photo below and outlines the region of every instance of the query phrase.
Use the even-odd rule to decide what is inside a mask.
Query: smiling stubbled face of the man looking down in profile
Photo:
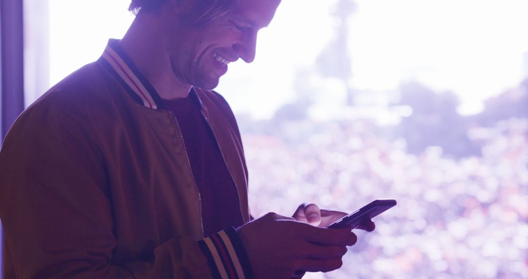
[[[258,31],[273,18],[280,0],[235,0],[232,11],[202,26],[182,26],[177,34],[167,26],[166,46],[180,81],[211,90],[228,63],[255,57]]]

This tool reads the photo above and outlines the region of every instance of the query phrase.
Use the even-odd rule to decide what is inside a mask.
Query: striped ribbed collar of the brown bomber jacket
[[[110,39],[99,60],[113,72],[128,94],[137,103],[152,109],[164,109],[163,99],[159,97],[156,89],[148,82],[145,76],[134,66],[132,60],[119,46],[119,40]],[[202,108],[202,101],[196,94],[194,87],[189,92],[190,97]]]

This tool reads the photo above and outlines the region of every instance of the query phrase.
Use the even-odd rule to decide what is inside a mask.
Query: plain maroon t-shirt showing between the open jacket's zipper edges
[[[208,237],[230,226],[242,226],[243,220],[237,189],[211,128],[191,94],[186,98],[163,101],[165,109],[171,110],[180,124],[200,191],[203,229],[205,237]]]

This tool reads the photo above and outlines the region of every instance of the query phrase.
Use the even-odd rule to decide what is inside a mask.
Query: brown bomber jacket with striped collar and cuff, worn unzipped
[[[248,176],[227,102],[194,88],[249,221]],[[0,152],[5,278],[243,278],[228,228],[204,238],[177,119],[117,41],[18,117]]]

